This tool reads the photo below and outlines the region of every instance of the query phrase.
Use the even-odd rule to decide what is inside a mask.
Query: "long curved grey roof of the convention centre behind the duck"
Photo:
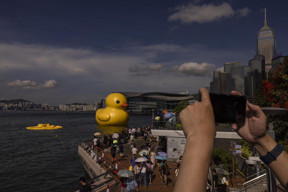
[[[163,93],[163,92],[149,92],[149,93],[133,93],[133,92],[120,92],[125,95],[126,98],[131,97],[147,97],[147,98],[154,98],[160,99],[164,101],[180,101],[180,100],[197,100],[198,93],[196,94],[177,94],[177,93]]]

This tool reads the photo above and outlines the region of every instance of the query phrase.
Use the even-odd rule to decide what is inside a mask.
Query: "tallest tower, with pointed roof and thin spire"
[[[264,55],[265,57],[265,74],[268,76],[268,71],[271,69],[272,55],[277,54],[277,42],[273,29],[267,26],[266,8],[264,27],[257,33],[256,39],[256,55]]]

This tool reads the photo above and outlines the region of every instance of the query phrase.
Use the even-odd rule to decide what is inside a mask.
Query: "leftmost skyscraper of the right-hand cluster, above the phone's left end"
[[[226,93],[226,73],[220,70],[213,71],[213,81],[210,82],[210,92]]]

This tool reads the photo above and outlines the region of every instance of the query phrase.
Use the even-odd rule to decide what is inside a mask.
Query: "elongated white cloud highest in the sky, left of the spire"
[[[246,16],[250,12],[250,8],[248,7],[234,11],[226,2],[220,5],[203,4],[201,6],[189,3],[188,5],[176,7],[175,10],[177,10],[177,12],[170,15],[168,21],[180,20],[186,24],[191,22],[211,22],[234,15]]]

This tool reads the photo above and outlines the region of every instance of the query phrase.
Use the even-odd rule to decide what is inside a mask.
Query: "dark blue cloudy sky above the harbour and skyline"
[[[111,92],[198,92],[247,65],[264,26],[287,55],[287,1],[1,1],[0,99],[94,103]]]

